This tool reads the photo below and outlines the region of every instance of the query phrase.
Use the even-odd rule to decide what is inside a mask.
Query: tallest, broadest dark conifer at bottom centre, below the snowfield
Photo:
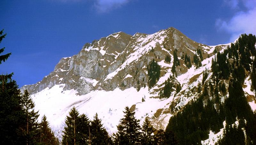
[[[117,126],[118,132],[114,135],[115,144],[139,144],[140,143],[140,125],[139,120],[134,117],[135,112],[131,112],[129,107],[125,107],[124,118],[120,119]]]

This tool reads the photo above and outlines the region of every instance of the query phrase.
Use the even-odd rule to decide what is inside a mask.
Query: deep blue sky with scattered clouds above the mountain
[[[0,73],[14,72],[21,86],[53,71],[61,57],[114,32],[152,34],[175,27],[207,45],[256,34],[256,0],[1,0]]]

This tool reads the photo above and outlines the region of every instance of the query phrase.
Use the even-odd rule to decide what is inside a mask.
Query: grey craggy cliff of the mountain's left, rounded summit
[[[130,35],[118,32],[91,44],[86,43],[77,55],[61,58],[54,71],[42,81],[23,86],[21,91],[28,89],[29,93],[35,94],[47,87],[65,84],[63,90],[75,89],[80,95],[87,94],[94,89],[101,77],[115,69],[115,65],[109,66],[126,48],[130,39]]]

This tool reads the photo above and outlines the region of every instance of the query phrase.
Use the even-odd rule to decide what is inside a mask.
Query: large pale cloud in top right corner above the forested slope
[[[217,19],[216,27],[219,30],[228,32],[231,36],[229,42],[235,41],[242,33],[256,34],[256,1],[255,0],[225,0],[230,8],[238,9],[229,20]],[[245,7],[242,11],[240,7]]]

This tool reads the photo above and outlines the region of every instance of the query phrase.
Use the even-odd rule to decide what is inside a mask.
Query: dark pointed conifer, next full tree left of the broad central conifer
[[[95,114],[91,122],[90,133],[92,145],[109,144],[110,139],[108,136],[108,132],[101,124],[101,119],[98,118],[97,113]]]

